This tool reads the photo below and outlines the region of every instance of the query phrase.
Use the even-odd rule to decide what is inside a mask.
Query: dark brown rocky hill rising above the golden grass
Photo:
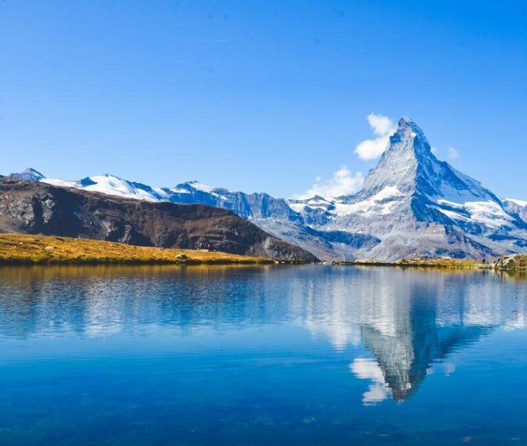
[[[0,231],[318,260],[225,209],[139,201],[7,177],[0,178]]]

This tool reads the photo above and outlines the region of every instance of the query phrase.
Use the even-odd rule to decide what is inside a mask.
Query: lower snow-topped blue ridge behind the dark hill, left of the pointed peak
[[[24,172],[28,171],[34,171],[34,169],[28,168]],[[11,174],[11,176],[28,179],[24,172]],[[377,237],[362,233],[353,234],[338,230],[318,231],[305,224],[303,215],[294,210],[292,200],[273,198],[267,193],[244,193],[213,188],[195,180],[180,183],[174,187],[160,188],[153,188],[110,174],[89,176],[82,180],[62,180],[44,176],[32,178],[32,180],[123,198],[151,202],[168,201],[178,204],[199,203],[228,209],[279,239],[297,246],[305,246],[305,249],[321,259],[348,258],[347,251],[350,249],[362,248],[364,252],[367,252],[380,242]]]

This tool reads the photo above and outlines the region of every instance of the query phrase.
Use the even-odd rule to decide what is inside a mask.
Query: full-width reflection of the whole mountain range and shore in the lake
[[[447,362],[501,327],[526,324],[526,282],[491,272],[393,268],[49,267],[0,270],[0,337],[174,336],[272,325],[303,327],[335,351],[366,347],[349,371],[369,381],[364,404],[416,392]],[[242,341],[240,341],[242,342]]]

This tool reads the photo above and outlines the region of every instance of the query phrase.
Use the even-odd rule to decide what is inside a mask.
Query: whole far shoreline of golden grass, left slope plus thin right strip
[[[119,242],[50,235],[0,233],[0,266],[24,265],[271,265],[304,264],[220,251],[135,246]],[[527,255],[503,256],[489,263],[473,259],[401,259],[398,261],[327,261],[333,266],[387,266],[527,272]]]

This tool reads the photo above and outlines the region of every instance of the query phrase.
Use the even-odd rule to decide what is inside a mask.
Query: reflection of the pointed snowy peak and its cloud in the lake
[[[526,326],[525,282],[494,272],[397,272],[370,270],[359,283],[333,280],[331,308],[310,301],[307,327],[325,333],[336,349],[364,346],[372,358],[356,357],[350,371],[371,384],[366,405],[388,397],[404,401],[443,362],[443,373],[454,373],[445,362],[497,327]],[[324,309],[323,309],[324,308]],[[324,314],[324,318],[320,315]]]

